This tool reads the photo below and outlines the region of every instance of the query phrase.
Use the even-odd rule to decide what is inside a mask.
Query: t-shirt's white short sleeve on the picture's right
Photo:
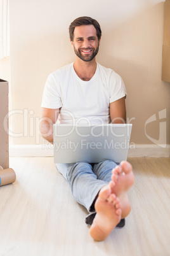
[[[114,71],[110,74],[108,91],[110,95],[110,103],[117,101],[117,99],[121,99],[127,94],[126,87],[121,76]]]

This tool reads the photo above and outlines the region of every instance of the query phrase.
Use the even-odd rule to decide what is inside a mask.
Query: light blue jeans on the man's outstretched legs
[[[115,162],[105,160],[97,164],[77,162],[75,164],[56,164],[56,168],[68,181],[72,196],[88,212],[95,213],[94,203],[100,189],[111,180]],[[87,223],[87,222],[86,222]]]

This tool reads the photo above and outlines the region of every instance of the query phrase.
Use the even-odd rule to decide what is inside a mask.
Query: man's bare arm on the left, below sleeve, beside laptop
[[[53,143],[53,124],[56,123],[60,109],[42,108],[41,135]]]

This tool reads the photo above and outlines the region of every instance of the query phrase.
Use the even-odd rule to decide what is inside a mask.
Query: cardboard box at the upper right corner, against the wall
[[[162,54],[162,80],[170,82],[170,0],[164,6],[164,42]]]

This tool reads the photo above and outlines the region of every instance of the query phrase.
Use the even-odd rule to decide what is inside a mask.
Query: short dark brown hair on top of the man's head
[[[70,34],[70,40],[73,41],[74,39],[74,29],[75,27],[78,27],[79,25],[94,25],[96,29],[96,35],[98,37],[98,40],[101,38],[101,29],[100,25],[94,18],[91,17],[79,17],[76,18],[69,26],[69,34]]]

